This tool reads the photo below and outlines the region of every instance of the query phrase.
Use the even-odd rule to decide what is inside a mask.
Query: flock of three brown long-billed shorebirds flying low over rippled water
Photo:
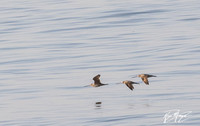
[[[90,86],[92,87],[100,87],[100,86],[104,86],[104,85],[108,85],[108,84],[102,84],[101,81],[100,81],[100,74],[96,75],[95,77],[93,77],[93,80],[94,80],[94,83],[90,84]],[[149,81],[148,81],[148,78],[149,77],[156,77],[155,75],[150,75],[150,74],[139,74],[137,75],[136,77],[140,77],[142,79],[142,81],[146,84],[146,85],[149,85]],[[133,82],[133,81],[130,81],[130,80],[125,80],[125,81],[122,81],[121,83],[123,84],[126,84],[126,86],[133,90],[134,87],[133,87],[133,84],[139,84],[137,82]]]

